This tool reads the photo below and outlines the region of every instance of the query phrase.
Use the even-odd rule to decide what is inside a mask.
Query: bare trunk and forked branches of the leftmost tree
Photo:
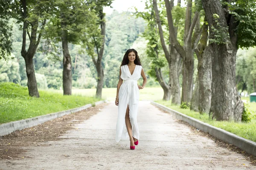
[[[38,18],[34,18],[31,22],[31,35],[29,35],[29,48],[26,51],[26,35],[29,34],[29,24],[26,21],[27,19],[27,2],[26,0],[21,0],[20,1],[22,8],[23,8],[23,13],[22,17],[24,19],[23,21],[23,35],[22,35],[22,47],[21,47],[21,56],[25,60],[26,64],[26,74],[28,78],[27,86],[29,90],[29,96],[35,96],[39,97],[39,92],[38,92],[38,87],[37,87],[37,82],[35,78],[35,68],[33,64],[33,57],[35,55],[35,52],[38,48],[38,44],[41,40],[42,33],[38,34],[38,39],[37,39],[37,30],[38,30]],[[44,30],[46,20],[43,21],[42,26],[41,26],[41,31]]]

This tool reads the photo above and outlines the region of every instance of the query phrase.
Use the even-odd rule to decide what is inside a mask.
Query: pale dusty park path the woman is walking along
[[[62,140],[26,147],[29,158],[0,160],[3,170],[255,170],[244,156],[231,152],[190,127],[140,101],[139,145],[115,142],[117,106],[110,102],[90,119],[76,124]],[[45,145],[45,144],[44,144]]]

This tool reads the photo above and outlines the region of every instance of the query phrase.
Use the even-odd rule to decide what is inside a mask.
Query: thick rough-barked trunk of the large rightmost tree
[[[244,103],[236,89],[236,52],[237,35],[235,30],[238,22],[233,15],[225,15],[224,8],[219,0],[202,0],[204,11],[209,23],[209,38],[213,39],[216,33],[212,30],[228,28],[227,36],[222,37],[224,43],[211,42],[212,50],[212,116],[218,121],[241,121]],[[218,15],[217,22],[214,14]],[[217,24],[218,23],[218,24]]]

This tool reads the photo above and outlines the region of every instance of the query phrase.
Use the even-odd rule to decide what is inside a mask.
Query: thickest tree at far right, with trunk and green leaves
[[[236,52],[256,45],[254,0],[202,0],[212,50],[210,112],[217,120],[241,121],[244,103],[236,89]]]

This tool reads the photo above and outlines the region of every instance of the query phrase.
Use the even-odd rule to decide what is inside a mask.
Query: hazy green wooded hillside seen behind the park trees
[[[14,82],[24,87],[27,86],[27,76],[25,61],[20,54],[22,45],[22,31],[20,25],[14,19],[9,20],[12,26],[12,54],[13,59],[0,60],[0,82]],[[142,65],[148,77],[147,87],[160,87],[157,80],[148,74],[150,71],[151,59],[147,57],[147,41],[143,37],[146,23],[141,17],[136,17],[129,12],[119,13],[113,11],[106,15],[106,40],[102,65],[104,68],[104,88],[116,88],[119,79],[119,66],[125,51],[134,48],[142,60]],[[58,44],[58,58],[46,54],[42,51],[44,41],[39,45],[39,51],[33,58],[35,74],[39,89],[62,89],[62,53],[61,44]],[[40,51],[41,50],[41,51]],[[70,45],[70,55],[72,56],[73,88],[96,88],[97,72],[91,57],[82,52],[81,45]],[[166,60],[163,57],[164,60]],[[167,62],[167,61],[165,61]],[[195,57],[195,68],[197,67]],[[256,92],[256,48],[239,49],[236,61],[237,88],[245,94]],[[197,69],[194,70],[194,82]],[[163,76],[168,82],[168,67],[163,68]],[[182,75],[180,74],[180,86]]]

